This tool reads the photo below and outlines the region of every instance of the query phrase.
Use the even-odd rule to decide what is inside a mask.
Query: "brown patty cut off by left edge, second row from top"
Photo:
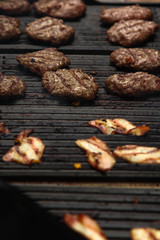
[[[0,15],[0,41],[6,42],[19,37],[21,34],[20,22],[13,17]]]

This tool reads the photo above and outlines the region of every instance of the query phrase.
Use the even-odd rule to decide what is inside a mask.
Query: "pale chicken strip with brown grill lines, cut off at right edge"
[[[114,154],[134,164],[160,164],[160,150],[156,147],[125,145],[116,147]]]

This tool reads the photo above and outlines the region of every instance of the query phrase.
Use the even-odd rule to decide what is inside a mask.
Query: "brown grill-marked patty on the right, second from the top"
[[[115,23],[107,35],[109,41],[131,47],[146,41],[158,30],[158,24],[145,20],[128,20]]]

